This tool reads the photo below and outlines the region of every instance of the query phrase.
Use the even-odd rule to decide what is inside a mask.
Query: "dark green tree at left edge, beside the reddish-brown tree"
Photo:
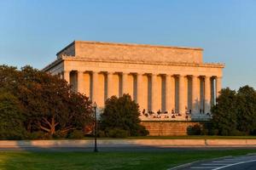
[[[0,139],[23,139],[24,111],[19,100],[8,92],[0,93]]]

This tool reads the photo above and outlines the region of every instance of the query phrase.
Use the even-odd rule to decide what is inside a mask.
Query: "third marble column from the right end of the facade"
[[[200,113],[200,81],[197,75],[192,76],[192,113]]]

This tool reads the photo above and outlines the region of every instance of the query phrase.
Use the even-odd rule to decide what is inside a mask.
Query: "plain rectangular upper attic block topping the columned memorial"
[[[75,41],[62,49],[57,55],[75,55],[84,59],[202,63],[201,48],[183,48],[144,44],[113,42]]]

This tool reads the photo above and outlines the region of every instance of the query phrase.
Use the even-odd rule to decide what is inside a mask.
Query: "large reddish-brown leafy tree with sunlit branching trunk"
[[[28,132],[68,133],[83,129],[91,121],[88,97],[74,93],[60,77],[31,66],[18,71],[15,67],[0,65],[0,87],[15,95],[23,106]]]

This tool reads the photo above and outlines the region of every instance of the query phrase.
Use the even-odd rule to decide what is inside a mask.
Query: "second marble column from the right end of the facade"
[[[205,77],[205,113],[211,112],[211,79],[210,77]]]

